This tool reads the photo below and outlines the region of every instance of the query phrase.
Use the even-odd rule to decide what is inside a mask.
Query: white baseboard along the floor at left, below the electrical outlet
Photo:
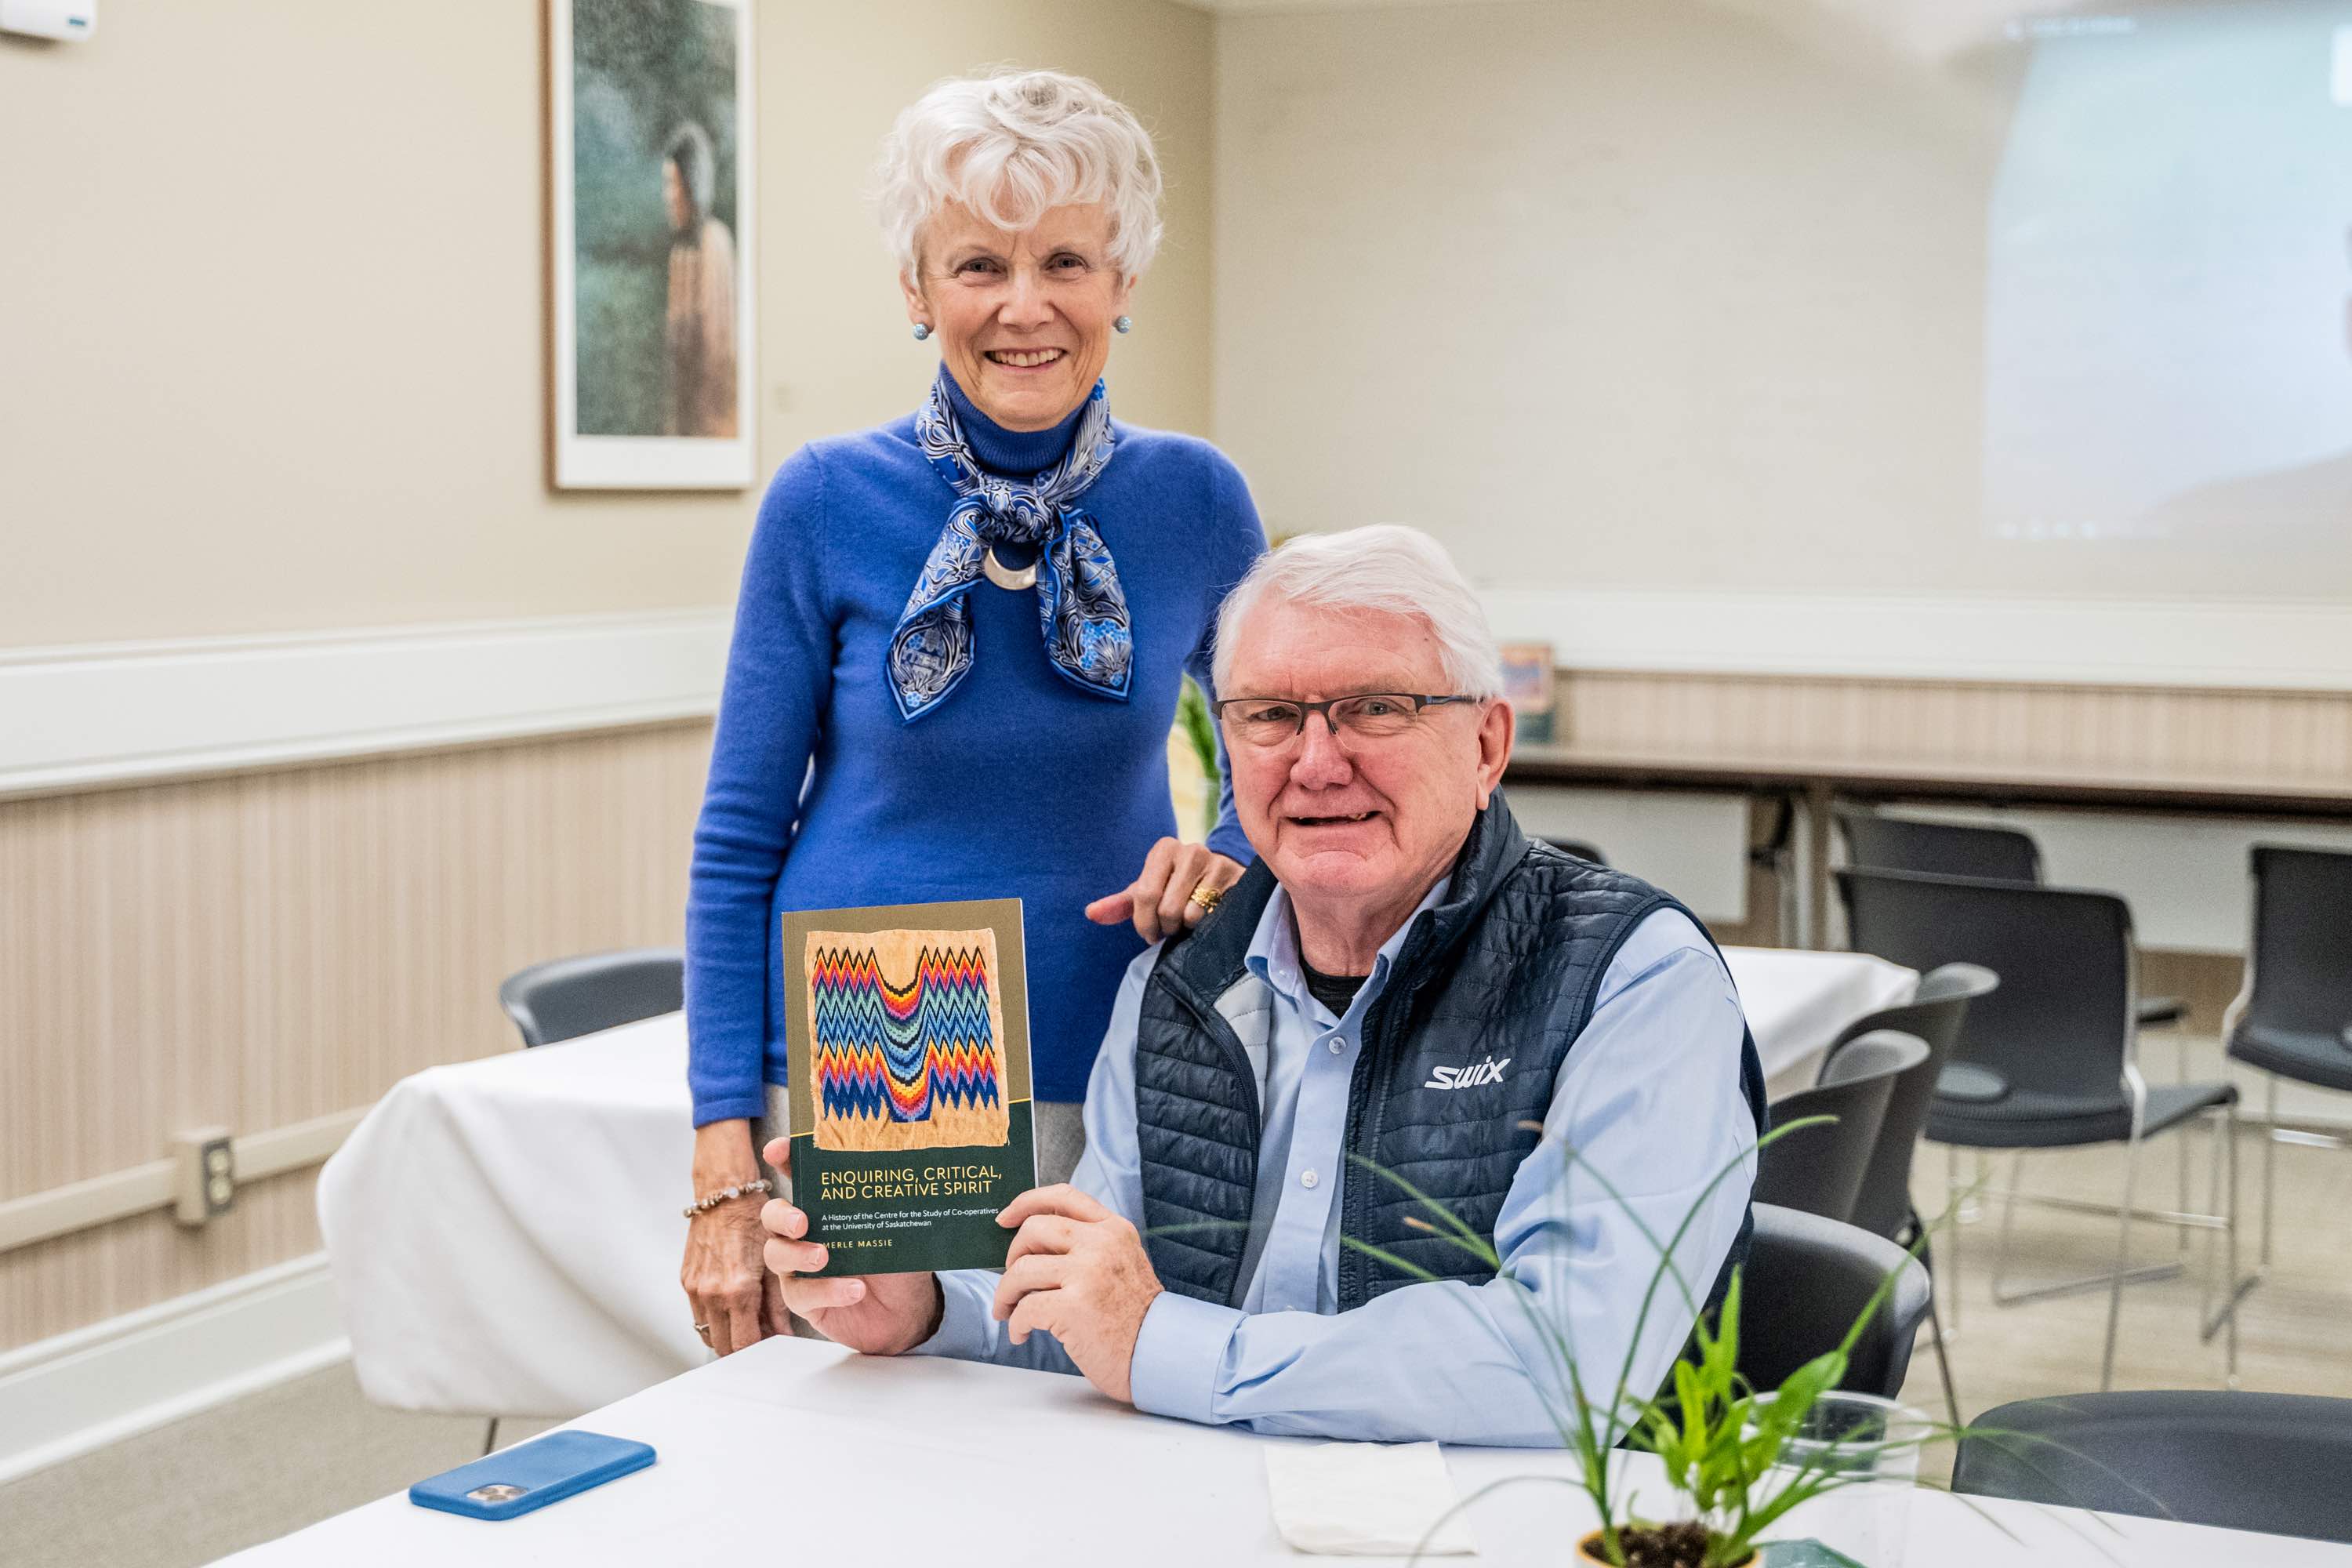
[[[327,1253],[0,1354],[0,1483],[350,1356]]]

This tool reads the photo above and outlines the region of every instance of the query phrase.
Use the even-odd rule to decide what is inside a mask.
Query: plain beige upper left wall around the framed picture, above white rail
[[[1117,409],[1207,430],[1207,14],[755,24],[764,468],[920,397],[866,172],[995,61],[1157,127],[1169,249]],[[546,487],[543,78],[532,0],[113,0],[87,45],[0,40],[0,646],[731,602],[757,491]]]

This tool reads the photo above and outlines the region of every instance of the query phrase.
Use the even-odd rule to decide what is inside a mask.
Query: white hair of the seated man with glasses
[[[1268,597],[1319,609],[1418,616],[1437,635],[1449,691],[1503,696],[1503,656],[1486,630],[1486,611],[1446,548],[1421,529],[1383,522],[1345,534],[1301,534],[1261,555],[1216,614],[1209,675],[1218,696],[1282,696],[1232,691],[1230,684],[1235,637]]]

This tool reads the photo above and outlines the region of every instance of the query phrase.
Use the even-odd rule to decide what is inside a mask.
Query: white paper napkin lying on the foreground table
[[[1409,1556],[1456,1505],[1437,1443],[1275,1443],[1265,1450],[1275,1528],[1291,1552]],[[1470,1516],[1454,1514],[1425,1556],[1472,1556]]]

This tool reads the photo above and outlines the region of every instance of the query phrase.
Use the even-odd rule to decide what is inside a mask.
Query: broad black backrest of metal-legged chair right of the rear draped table
[[[1837,872],[1853,947],[1910,969],[1978,964],[1999,990],[1969,1001],[1955,1060],[2011,1088],[2112,1103],[2131,1058],[2131,910],[2114,893],[1969,877]]]

